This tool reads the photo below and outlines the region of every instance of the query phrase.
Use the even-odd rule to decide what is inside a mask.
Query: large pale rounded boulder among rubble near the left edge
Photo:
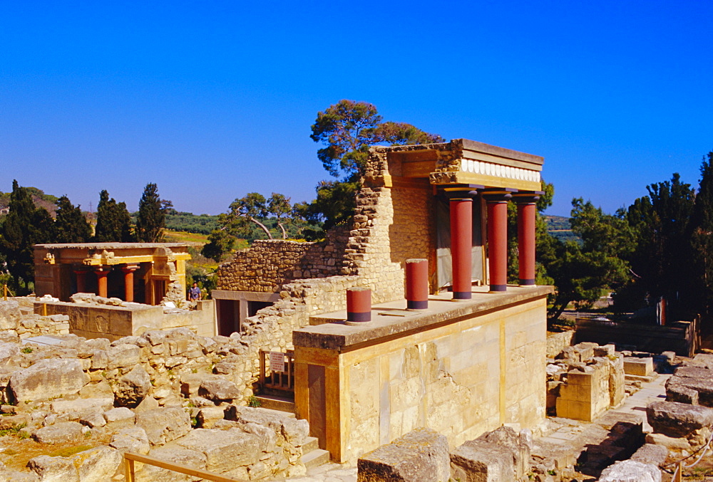
[[[75,394],[89,381],[82,370],[81,360],[45,359],[10,377],[14,399],[44,400],[66,394]]]

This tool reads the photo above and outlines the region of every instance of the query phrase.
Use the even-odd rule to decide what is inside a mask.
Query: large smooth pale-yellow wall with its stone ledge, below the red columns
[[[451,445],[504,423],[538,429],[545,416],[549,291],[429,300],[425,313],[404,318],[376,307],[366,325],[297,330],[297,411],[342,462],[419,426]]]

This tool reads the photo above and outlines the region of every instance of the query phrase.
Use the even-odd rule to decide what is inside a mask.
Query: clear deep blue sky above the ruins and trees
[[[712,1],[0,1],[0,191],[176,209],[314,197],[342,98],[545,157],[549,214],[615,211],[713,150]]]

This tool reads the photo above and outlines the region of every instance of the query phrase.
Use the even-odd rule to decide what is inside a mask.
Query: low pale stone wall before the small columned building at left
[[[85,338],[141,335],[148,330],[191,328],[201,336],[215,335],[215,301],[202,300],[196,310],[169,309],[163,306],[125,303],[120,306],[88,303],[41,301],[35,312],[66,315],[70,331]]]

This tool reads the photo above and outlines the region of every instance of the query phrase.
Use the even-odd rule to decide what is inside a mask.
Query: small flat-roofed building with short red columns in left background
[[[36,244],[35,293],[68,301],[73,293],[158,305],[168,285],[185,286],[182,243]]]

